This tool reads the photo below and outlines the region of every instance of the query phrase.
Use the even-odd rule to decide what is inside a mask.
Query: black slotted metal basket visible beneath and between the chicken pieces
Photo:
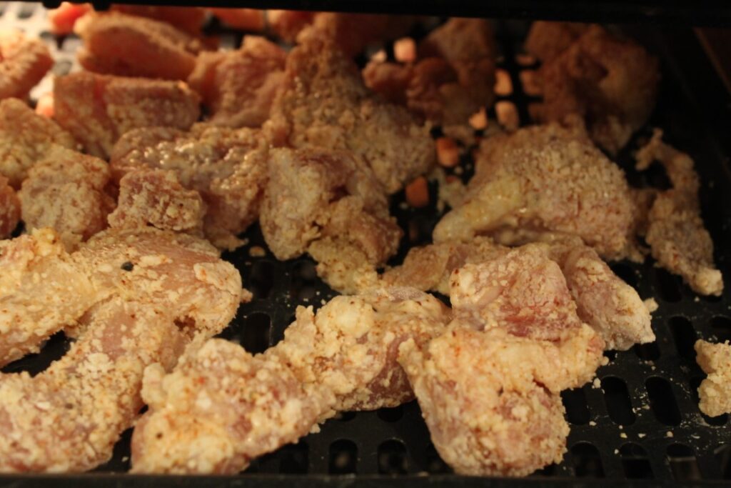
[[[53,45],[56,74],[72,69],[79,41],[59,38],[44,31],[45,12],[34,3],[0,1],[0,28],[20,26],[39,34]],[[535,64],[520,55],[526,33],[523,21],[499,20],[496,33],[501,49],[499,67],[510,75],[512,90],[498,103],[514,107],[520,124],[530,122],[529,106],[538,99],[526,94],[523,82]],[[213,26],[215,29],[216,26]],[[637,28],[635,34],[662,59],[663,81],[659,103],[651,123],[638,134],[616,160],[635,186],[667,184],[659,168],[645,173],[632,169],[632,151],[646,140],[651,127],[662,127],[666,140],[694,158],[702,179],[700,192],[703,217],[716,246],[716,261],[727,279],[720,298],[696,296],[681,279],[643,265],[614,263],[616,273],[635,286],[643,298],[654,297],[659,309],[653,315],[657,340],[621,353],[610,352],[610,363],[599,369],[598,380],[562,395],[571,425],[564,462],[530,478],[500,480],[454,476],[439,459],[416,402],[376,412],[344,413],[327,421],[322,432],[308,435],[298,444],[284,446],[255,460],[240,476],[165,477],[121,475],[129,468],[129,437],[126,432],[107,465],[95,473],[61,476],[0,476],[2,486],[69,486],[83,483],[118,486],[507,486],[596,482],[624,486],[635,479],[702,481],[731,478],[731,424],[726,415],[703,416],[698,410],[696,388],[702,372],[694,360],[695,339],[731,339],[731,174],[727,140],[731,126],[729,94],[716,78],[700,45],[689,31]],[[224,44],[237,45],[240,34],[223,31]],[[423,32],[414,32],[414,36]],[[526,75],[528,73],[528,75]],[[50,89],[42,85],[34,93]],[[495,123],[495,110],[490,113]],[[463,160],[463,178],[471,169]],[[412,209],[396,195],[391,211],[404,228],[399,263],[409,247],[427,244],[439,219],[436,187],[432,205]],[[294,317],[298,305],[319,307],[333,293],[314,271],[308,258],[279,262],[268,252],[257,226],[246,233],[248,244],[224,253],[241,271],[244,286],[254,300],[240,307],[222,337],[240,342],[246,350],[260,352],[276,344]],[[54,336],[42,352],[16,361],[4,372],[44,369],[68,348],[62,334]],[[1,435],[1,432],[0,432]],[[116,474],[110,474],[116,473]],[[336,476],[330,476],[336,475]],[[428,476],[427,476],[428,475]]]

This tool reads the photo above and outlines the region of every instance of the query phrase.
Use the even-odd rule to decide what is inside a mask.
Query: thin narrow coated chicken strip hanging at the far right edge
[[[673,188],[659,192],[648,213],[645,241],[663,268],[681,275],[702,295],[721,295],[721,271],[713,263],[713,241],[700,217],[700,181],[693,159],[662,142],[662,131],[637,152],[637,169],[653,161],[664,165]]]

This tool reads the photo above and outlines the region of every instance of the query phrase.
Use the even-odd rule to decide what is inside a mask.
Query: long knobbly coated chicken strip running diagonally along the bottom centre
[[[392,288],[338,296],[317,315],[298,307],[284,340],[257,356],[220,339],[192,345],[171,374],[145,373],[132,470],[238,473],[336,410],[400,405],[413,394],[398,346],[425,345],[449,319],[433,297]]]

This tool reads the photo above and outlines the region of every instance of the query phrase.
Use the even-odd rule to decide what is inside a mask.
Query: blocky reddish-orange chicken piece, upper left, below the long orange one
[[[200,116],[200,99],[185,83],[78,72],[56,78],[54,119],[88,153],[109,157],[132,129],[189,129]]]

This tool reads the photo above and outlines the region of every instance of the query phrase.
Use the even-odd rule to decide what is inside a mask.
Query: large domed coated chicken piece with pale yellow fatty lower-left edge
[[[638,259],[635,209],[623,171],[580,127],[553,123],[486,139],[463,203],[433,237],[521,244],[561,233],[580,236],[603,258]]]

